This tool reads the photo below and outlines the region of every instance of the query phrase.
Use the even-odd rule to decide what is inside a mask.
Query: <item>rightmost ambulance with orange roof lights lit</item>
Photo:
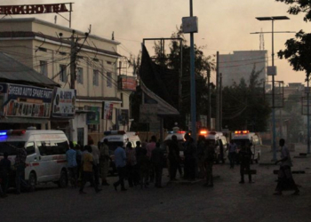
[[[232,133],[231,139],[235,142],[237,150],[239,151],[242,146],[251,144],[251,162],[258,163],[260,160],[260,140],[255,132],[250,131],[235,131]],[[237,151],[237,152],[238,152]]]

